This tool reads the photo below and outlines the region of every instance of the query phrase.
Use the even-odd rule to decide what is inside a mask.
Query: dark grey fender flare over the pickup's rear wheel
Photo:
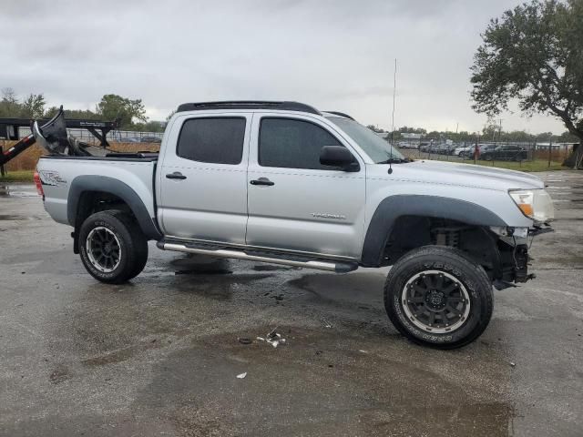
[[[102,191],[118,196],[118,198],[121,198],[128,204],[128,207],[134,216],[136,216],[136,219],[138,219],[139,227],[148,239],[158,240],[162,238],[156,219],[149,216],[148,208],[146,208],[138,193],[124,182],[105,176],[77,176],[77,178],[71,181],[71,187],[69,188],[66,200],[66,219],[75,229],[77,229],[77,225],[81,225],[80,223],[76,223],[78,204],[81,195],[86,191]]]

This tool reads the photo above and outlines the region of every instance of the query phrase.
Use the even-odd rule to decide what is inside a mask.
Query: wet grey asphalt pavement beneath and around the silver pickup
[[[457,351],[394,330],[386,269],[150,243],[138,278],[101,284],[32,185],[0,186],[0,435],[582,435],[583,172],[541,176],[557,231],[533,244],[538,278],[496,291]],[[285,344],[256,340],[276,327]]]

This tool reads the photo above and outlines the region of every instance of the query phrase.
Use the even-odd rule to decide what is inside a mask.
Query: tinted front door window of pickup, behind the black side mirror
[[[332,170],[320,164],[324,146],[342,146],[332,135],[308,121],[292,118],[261,120],[259,164],[262,167]]]

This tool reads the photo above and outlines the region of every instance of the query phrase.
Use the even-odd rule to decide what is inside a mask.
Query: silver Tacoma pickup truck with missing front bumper
[[[535,176],[412,161],[352,117],[295,102],[180,105],[159,154],[49,155],[36,178],[98,280],[137,276],[148,240],[337,273],[393,266],[389,318],[443,349],[486,329],[493,285],[532,278],[527,240],[554,217]]]

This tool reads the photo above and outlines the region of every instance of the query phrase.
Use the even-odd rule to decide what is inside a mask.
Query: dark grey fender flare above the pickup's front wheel
[[[507,226],[491,210],[466,200],[426,195],[390,196],[379,203],[369,223],[363,242],[363,267],[381,265],[394,223],[403,216],[452,219],[476,226]]]

